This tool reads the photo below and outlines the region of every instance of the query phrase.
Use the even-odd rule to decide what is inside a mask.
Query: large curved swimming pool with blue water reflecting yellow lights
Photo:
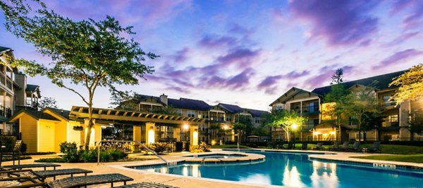
[[[391,170],[372,166],[309,160],[309,154],[259,152],[266,158],[243,163],[178,163],[157,173],[290,187],[422,187],[422,170]],[[146,169],[145,167],[133,167]]]

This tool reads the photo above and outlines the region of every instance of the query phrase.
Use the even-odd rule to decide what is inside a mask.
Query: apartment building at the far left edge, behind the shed
[[[11,48],[0,46],[0,133],[18,133],[18,128],[7,119],[20,109],[35,109],[41,97],[39,86],[27,84],[25,74],[9,65],[13,58]]]

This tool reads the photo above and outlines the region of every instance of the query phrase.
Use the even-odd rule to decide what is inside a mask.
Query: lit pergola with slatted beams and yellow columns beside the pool
[[[84,123],[85,127],[88,124],[88,107],[73,106],[69,114],[69,119]],[[198,125],[204,123],[205,119],[175,116],[168,114],[154,114],[148,112],[137,112],[123,109],[104,109],[92,108],[92,119],[94,122],[94,140],[96,142],[101,140],[101,125],[102,124],[130,124],[133,125],[133,139],[138,141],[145,141],[147,143],[154,142],[154,132],[156,130],[156,123],[166,126],[173,126],[173,134],[180,134],[180,127],[188,125],[190,127],[191,145],[198,144]],[[145,125],[145,140],[141,140],[141,126]]]

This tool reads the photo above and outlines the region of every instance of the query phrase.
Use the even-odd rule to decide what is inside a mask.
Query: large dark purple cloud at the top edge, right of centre
[[[377,31],[378,19],[369,15],[376,1],[326,0],[290,1],[294,18],[312,24],[311,38],[330,46],[368,45]]]

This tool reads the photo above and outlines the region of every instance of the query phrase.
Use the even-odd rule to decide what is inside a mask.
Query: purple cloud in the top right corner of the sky
[[[392,5],[391,14],[397,14],[403,11],[408,13],[402,21],[405,29],[413,29],[422,25],[423,1],[398,0]]]

